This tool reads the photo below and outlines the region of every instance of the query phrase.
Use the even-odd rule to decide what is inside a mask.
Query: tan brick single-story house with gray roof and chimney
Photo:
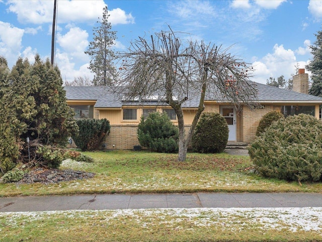
[[[293,79],[298,91],[289,91],[257,83],[260,105],[251,109],[242,107],[237,113],[233,105],[206,97],[205,112],[218,112],[227,121],[229,142],[250,143],[255,138],[257,126],[262,116],[272,110],[285,116],[306,113],[320,119],[322,98],[308,95],[308,75],[300,69]],[[76,117],[106,118],[111,125],[111,133],[102,144],[103,149],[133,149],[138,145],[137,125],[141,116],[149,112],[166,112],[176,125],[178,120],[174,109],[167,103],[151,97],[149,100],[124,101],[108,87],[64,87],[67,104],[72,107]],[[301,92],[306,93],[301,93]],[[183,104],[184,122],[188,129],[198,108],[198,100],[189,98]]]

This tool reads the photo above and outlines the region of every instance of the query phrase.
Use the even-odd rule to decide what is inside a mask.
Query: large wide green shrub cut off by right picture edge
[[[248,147],[260,174],[296,181],[320,181],[322,122],[308,114],[281,118]]]

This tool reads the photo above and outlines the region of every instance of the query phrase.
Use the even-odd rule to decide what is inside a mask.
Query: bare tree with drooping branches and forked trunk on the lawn
[[[139,37],[131,43],[127,51],[119,53],[122,64],[115,85],[128,100],[157,95],[174,108],[179,125],[178,160],[185,161],[206,95],[241,110],[241,103],[257,103],[257,89],[249,81],[252,67],[227,53],[228,49],[203,41],[188,41],[185,47],[177,34],[170,29],[151,35],[149,42]],[[198,110],[185,136],[182,107],[196,98]]]

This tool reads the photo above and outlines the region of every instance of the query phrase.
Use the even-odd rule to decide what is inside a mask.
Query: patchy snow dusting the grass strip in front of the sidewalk
[[[195,227],[216,227],[222,230],[241,231],[244,229],[274,229],[296,231],[314,231],[322,234],[322,208],[179,208],[179,209],[122,209],[122,210],[68,210],[46,212],[4,212],[0,220],[7,226],[22,226],[21,220],[65,218],[86,219],[93,216],[111,220],[128,219],[149,229],[153,220],[169,228],[185,228],[186,224]],[[0,227],[0,232],[1,232]]]

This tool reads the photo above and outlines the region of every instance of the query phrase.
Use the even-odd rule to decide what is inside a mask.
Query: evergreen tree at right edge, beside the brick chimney
[[[322,97],[322,31],[317,31],[316,41],[310,45],[313,59],[306,65],[306,69],[311,72],[313,81],[309,94]]]

